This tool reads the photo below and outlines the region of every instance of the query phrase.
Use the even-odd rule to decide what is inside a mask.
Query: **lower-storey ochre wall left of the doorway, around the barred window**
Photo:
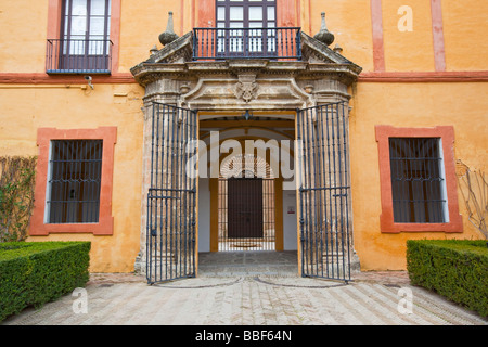
[[[30,236],[28,241],[91,241],[91,271],[130,272],[140,239],[143,90],[138,85],[95,85],[93,90],[81,87],[87,86],[0,85],[0,155],[38,155],[38,128],[116,127],[113,235],[65,233]]]

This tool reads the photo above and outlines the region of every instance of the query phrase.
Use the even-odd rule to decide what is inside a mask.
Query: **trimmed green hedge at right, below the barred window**
[[[413,285],[436,291],[483,317],[488,316],[486,241],[410,240],[407,268]]]

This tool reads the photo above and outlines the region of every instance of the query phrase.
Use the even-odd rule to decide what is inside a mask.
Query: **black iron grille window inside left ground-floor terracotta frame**
[[[102,151],[102,140],[51,141],[49,223],[99,221]]]

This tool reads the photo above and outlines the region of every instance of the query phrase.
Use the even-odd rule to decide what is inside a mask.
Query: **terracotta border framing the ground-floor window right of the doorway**
[[[400,232],[463,232],[462,216],[459,214],[458,184],[454,160],[454,128],[439,126],[435,128],[395,128],[376,126],[376,142],[378,146],[378,164],[381,180],[382,215],[380,227],[383,233]],[[446,172],[446,191],[448,201],[449,222],[447,223],[396,223],[394,222],[391,198],[391,171],[389,160],[389,138],[441,138],[444,166]]]

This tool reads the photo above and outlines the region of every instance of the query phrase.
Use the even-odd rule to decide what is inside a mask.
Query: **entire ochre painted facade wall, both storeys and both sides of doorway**
[[[488,2],[441,0],[441,28],[446,70],[460,82],[411,82],[409,76],[436,72],[431,3],[439,0],[280,0],[282,24],[300,26],[313,36],[320,29],[321,12],[335,35],[343,54],[363,67],[363,76],[375,70],[372,3],[381,3],[382,26],[376,34],[383,43],[381,59],[394,82],[367,82],[360,78],[350,92],[350,155],[352,179],[354,235],[363,270],[404,269],[406,241],[424,237],[478,239],[466,209],[459,201],[464,232],[385,234],[380,230],[380,196],[376,125],[395,127],[454,128],[455,158],[475,169],[487,170]],[[144,90],[130,77],[130,68],[150,56],[150,49],[166,29],[168,12],[174,28],[183,35],[194,26],[207,26],[214,0],[121,1],[118,68],[94,90],[82,76],[50,77],[46,72],[49,4],[55,0],[0,0],[0,155],[36,155],[37,129],[117,127],[115,144],[113,206],[114,234],[51,234],[30,237],[92,241],[91,271],[127,272],[140,247],[142,184],[142,95]],[[401,5],[412,8],[413,31],[400,33]],[[215,20],[215,18],[214,18]],[[214,23],[215,25],[215,23]],[[437,33],[438,34],[438,33]],[[439,36],[437,36],[439,37]],[[468,82],[464,72],[481,76]],[[376,72],[377,73],[377,72]],[[9,82],[15,75],[16,82]],[[395,75],[397,74],[397,75]],[[398,75],[400,74],[400,75]],[[403,74],[403,75],[401,75]],[[124,83],[120,83],[120,76]],[[431,75],[429,75],[431,76]],[[432,79],[438,78],[432,75]],[[22,83],[18,82],[22,81]],[[39,82],[41,80],[42,82]],[[47,81],[51,83],[47,83]],[[422,78],[420,78],[422,81]],[[85,89],[81,89],[85,88]]]

